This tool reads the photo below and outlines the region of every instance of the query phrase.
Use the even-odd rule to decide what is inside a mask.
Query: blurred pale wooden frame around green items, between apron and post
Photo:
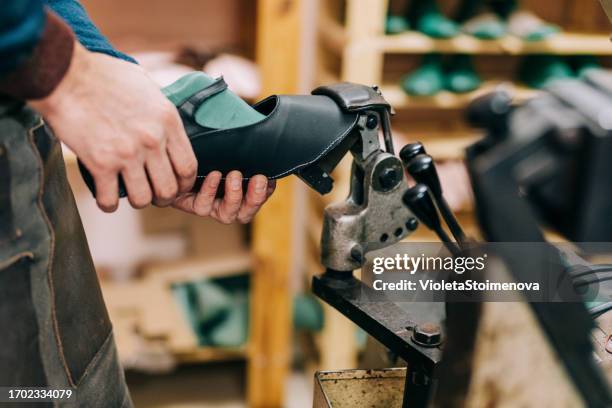
[[[102,292],[113,322],[115,341],[123,361],[142,358],[147,344],[163,344],[177,364],[243,360],[248,346],[199,346],[184,311],[174,300],[173,284],[203,277],[226,276],[252,267],[248,253],[232,259],[202,259],[152,264],[143,276],[129,282],[103,281]]]

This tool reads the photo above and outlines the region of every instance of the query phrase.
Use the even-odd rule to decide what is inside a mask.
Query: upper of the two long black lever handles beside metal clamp
[[[427,154],[415,156],[406,165],[406,170],[408,170],[408,173],[410,173],[417,183],[422,183],[429,187],[434,198],[438,202],[440,213],[444,221],[446,221],[448,228],[457,242],[463,245],[467,241],[467,237],[442,194],[442,185],[440,184],[438,171],[436,170],[436,166],[431,156]]]

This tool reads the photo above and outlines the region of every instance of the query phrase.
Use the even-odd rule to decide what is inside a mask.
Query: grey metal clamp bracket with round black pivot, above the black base
[[[360,106],[350,150],[354,159],[350,193],[343,202],[328,206],[323,218],[321,262],[327,269],[348,274],[363,266],[367,252],[399,242],[418,226],[402,203],[408,181],[402,161],[391,150],[391,108],[380,92],[372,89],[378,105]],[[341,95],[347,90],[342,89]],[[345,107],[355,109],[350,101]],[[379,142],[381,130],[386,151]]]

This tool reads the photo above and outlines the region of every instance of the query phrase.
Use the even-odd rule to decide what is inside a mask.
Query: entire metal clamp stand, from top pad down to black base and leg
[[[402,200],[409,186],[402,160],[393,154],[391,107],[377,88],[359,88],[340,84],[323,90],[344,109],[358,111],[360,117],[349,138],[353,156],[350,192],[344,201],[325,209],[321,263],[326,271],[313,278],[312,290],[409,362],[404,405],[425,406],[435,383],[433,371],[442,355],[444,304],[419,303],[406,310],[391,301],[371,302],[367,298],[372,289],[353,277],[369,252],[396,244],[419,225]],[[322,175],[339,160],[329,157],[329,162],[319,164]],[[323,178],[328,177],[315,180]],[[420,341],[419,335],[431,341]]]

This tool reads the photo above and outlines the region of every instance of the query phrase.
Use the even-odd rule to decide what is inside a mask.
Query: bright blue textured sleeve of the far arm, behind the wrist
[[[136,63],[132,57],[117,51],[110,45],[100,30],[91,22],[78,0],[45,0],[45,3],[64,19],[76,34],[79,42],[88,50]]]

